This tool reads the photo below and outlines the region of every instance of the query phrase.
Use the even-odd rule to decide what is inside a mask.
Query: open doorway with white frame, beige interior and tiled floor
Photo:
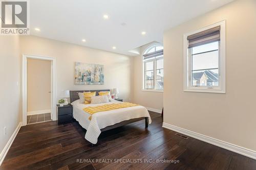
[[[55,58],[23,55],[23,126],[56,120]]]

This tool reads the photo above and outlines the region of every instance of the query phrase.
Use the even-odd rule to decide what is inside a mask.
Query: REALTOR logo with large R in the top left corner
[[[29,35],[28,1],[1,1],[1,35]]]

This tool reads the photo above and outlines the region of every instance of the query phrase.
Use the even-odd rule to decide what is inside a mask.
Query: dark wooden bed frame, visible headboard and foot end
[[[110,91],[110,90],[109,89],[106,89],[106,90],[75,90],[75,91],[70,90],[70,103],[79,99],[78,92],[93,92],[93,91],[96,91],[96,95],[99,95],[100,91]],[[100,131],[104,132],[104,131],[107,131],[107,130],[110,130],[110,129],[118,128],[120,126],[124,126],[124,125],[127,125],[127,124],[138,122],[138,121],[143,120],[143,119],[145,119],[145,128],[147,128],[148,127],[148,117],[139,117],[139,118],[133,118],[133,119],[130,119],[130,120],[124,120],[124,121],[122,121],[120,123],[117,123],[115,125],[112,125],[112,126],[107,126],[103,129],[101,129]]]

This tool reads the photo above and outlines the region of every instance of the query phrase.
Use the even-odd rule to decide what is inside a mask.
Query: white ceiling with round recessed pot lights
[[[33,0],[30,34],[136,56],[129,51],[152,41],[162,42],[164,30],[231,1]]]

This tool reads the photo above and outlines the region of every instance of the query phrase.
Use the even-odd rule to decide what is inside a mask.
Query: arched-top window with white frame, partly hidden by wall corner
[[[154,45],[143,54],[143,89],[163,91],[163,46]]]

